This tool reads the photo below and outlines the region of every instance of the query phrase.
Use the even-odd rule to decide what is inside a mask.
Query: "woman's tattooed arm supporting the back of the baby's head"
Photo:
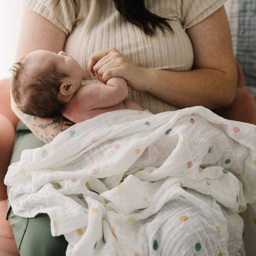
[[[59,52],[63,50],[65,41],[66,34],[62,30],[33,10],[25,8],[20,26],[16,60],[38,49]],[[14,104],[12,104],[12,108],[18,118],[26,124],[36,137],[45,143],[52,141],[57,134],[73,124],[70,121],[63,120],[61,117],[41,119],[23,114],[15,108]]]

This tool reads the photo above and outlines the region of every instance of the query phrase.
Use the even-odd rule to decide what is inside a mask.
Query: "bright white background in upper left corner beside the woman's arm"
[[[15,61],[21,4],[21,0],[0,0],[0,79],[10,76],[9,68]]]

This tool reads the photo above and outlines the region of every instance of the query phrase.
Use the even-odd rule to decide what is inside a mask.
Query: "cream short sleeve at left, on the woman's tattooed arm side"
[[[76,23],[80,5],[75,0],[24,0],[23,6],[38,12],[68,35]]]

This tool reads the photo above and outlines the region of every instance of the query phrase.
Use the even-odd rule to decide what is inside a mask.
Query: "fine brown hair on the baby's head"
[[[27,79],[25,67],[26,59],[23,58],[14,63],[10,69],[12,95],[18,108],[23,113],[39,118],[53,118],[60,115],[66,103],[58,99],[58,91],[63,79],[68,75],[58,72],[52,65]]]

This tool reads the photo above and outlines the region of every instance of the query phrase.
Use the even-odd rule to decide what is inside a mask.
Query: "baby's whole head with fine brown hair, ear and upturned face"
[[[12,95],[26,114],[52,118],[65,108],[81,87],[82,68],[61,51],[36,50],[11,69]]]

